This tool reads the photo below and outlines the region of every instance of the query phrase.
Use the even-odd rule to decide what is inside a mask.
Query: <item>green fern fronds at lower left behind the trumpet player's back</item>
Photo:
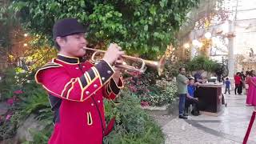
[[[28,118],[30,114],[37,114],[36,119],[42,122],[45,128],[38,132],[32,130],[34,134],[34,143],[42,143],[43,139],[48,140],[50,130],[52,130],[53,114],[50,110],[50,104],[45,90],[42,90],[34,82],[24,85],[24,94],[19,95],[19,101],[14,103],[10,108],[10,121],[4,121],[0,128],[0,139],[7,139],[14,137],[18,127]],[[47,138],[46,138],[47,137]]]

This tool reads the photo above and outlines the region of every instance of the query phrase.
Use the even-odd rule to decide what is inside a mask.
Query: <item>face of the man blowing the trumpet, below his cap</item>
[[[85,34],[73,34],[66,36],[66,39],[60,40],[58,42],[61,46],[61,51],[67,56],[70,57],[83,57],[86,54],[86,50],[83,47],[86,47],[88,42],[86,41]]]

